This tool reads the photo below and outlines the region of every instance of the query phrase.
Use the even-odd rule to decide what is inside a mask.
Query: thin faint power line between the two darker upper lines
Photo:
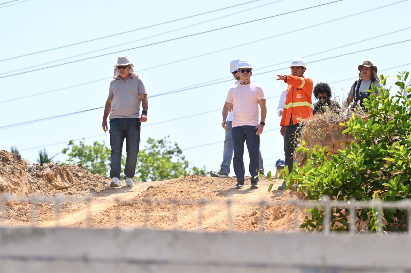
[[[217,18],[212,18],[212,19],[210,19],[210,20],[205,20],[205,21],[203,21],[203,22],[195,23],[195,24],[188,25],[188,26],[185,26],[185,27],[180,27],[180,28],[176,28],[176,29],[174,29],[174,30],[169,30],[169,31],[162,32],[162,33],[159,33],[159,34],[155,34],[155,35],[151,35],[151,36],[148,36],[148,37],[140,38],[140,39],[138,39],[138,40],[129,41],[129,42],[125,42],[125,43],[120,43],[120,44],[117,44],[117,45],[115,45],[115,46],[109,46],[109,47],[106,47],[106,48],[101,48],[101,49],[97,49],[97,50],[93,50],[93,51],[81,53],[81,54],[79,54],[79,55],[74,55],[74,56],[70,56],[70,57],[66,57],[66,58],[62,58],[62,59],[58,59],[58,60],[54,60],[54,61],[48,61],[48,62],[42,63],[42,64],[36,64],[36,65],[34,65],[34,66],[27,66],[27,67],[24,67],[24,68],[19,68],[19,69],[12,70],[12,71],[8,71],[8,72],[3,72],[3,73],[0,73],[0,75],[5,75],[5,74],[8,74],[8,73],[12,73],[12,72],[16,72],[16,71],[21,71],[21,70],[25,70],[25,69],[29,69],[29,68],[33,68],[33,67],[38,67],[38,66],[42,66],[42,65],[46,65],[46,64],[53,64],[53,63],[58,62],[58,61],[65,61],[65,60],[67,60],[67,59],[72,59],[72,58],[75,58],[75,57],[80,57],[80,56],[88,55],[88,54],[90,54],[90,53],[95,53],[95,52],[99,52],[99,51],[106,50],[106,49],[116,48],[116,47],[118,47],[118,46],[124,46],[124,45],[127,45],[127,44],[129,44],[129,43],[134,43],[134,42],[138,42],[138,41],[143,41],[143,40],[145,40],[145,39],[150,39],[150,38],[153,38],[153,37],[161,36],[161,35],[163,35],[163,34],[168,34],[168,33],[171,33],[171,32],[178,31],[178,30],[183,30],[183,29],[186,29],[186,28],[188,28],[188,27],[193,27],[193,26],[196,26],[196,25],[201,25],[201,24],[203,24],[203,23],[208,23],[208,22],[211,22],[211,21],[214,21],[214,20],[218,20],[218,19],[221,19],[221,18],[224,18],[224,17],[231,16],[231,15],[236,15],[236,14],[239,14],[239,13],[241,13],[241,12],[250,11],[250,10],[252,10],[252,9],[257,9],[257,8],[259,8],[259,7],[264,7],[264,6],[267,6],[267,5],[271,5],[271,4],[277,3],[277,2],[279,2],[279,1],[283,1],[283,0],[276,0],[276,1],[273,1],[273,2],[270,2],[270,3],[266,3],[266,4],[264,4],[264,5],[252,7],[252,8],[249,8],[249,9],[244,9],[244,10],[242,10],[242,11],[237,11],[237,12],[231,13],[231,14],[226,14],[226,15],[223,15],[223,16],[220,16],[220,17],[217,17]]]

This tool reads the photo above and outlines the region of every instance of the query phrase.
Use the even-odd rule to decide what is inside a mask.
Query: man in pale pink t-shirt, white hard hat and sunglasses
[[[236,189],[244,187],[244,142],[247,143],[250,157],[249,173],[251,175],[251,188],[258,188],[260,134],[264,129],[267,115],[266,96],[263,88],[250,81],[252,65],[247,60],[238,63],[237,71],[240,82],[231,86],[223,108],[223,126],[227,126],[226,118],[233,106],[233,167],[237,177]],[[259,122],[259,105],[261,108],[261,122]]]

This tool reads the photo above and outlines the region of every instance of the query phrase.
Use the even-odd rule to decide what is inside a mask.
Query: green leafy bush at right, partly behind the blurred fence
[[[378,88],[379,96],[365,99],[367,117],[353,113],[343,133],[354,136],[345,150],[338,155],[326,153],[326,147],[304,146],[297,152],[307,154],[304,166],[294,166],[286,174],[287,189],[296,187],[311,200],[330,196],[332,200],[402,200],[410,197],[411,177],[411,88],[406,84],[409,72],[399,73],[399,91],[390,96],[390,89]],[[388,77],[381,77],[385,86]],[[372,90],[377,89],[372,84]],[[300,225],[307,231],[321,230],[323,209],[310,209]],[[345,212],[345,213],[344,213]],[[383,210],[383,228],[387,231],[406,230],[406,214],[401,209]],[[347,230],[346,210],[335,208],[330,227],[332,230]],[[376,212],[372,209],[357,209],[358,227],[366,221],[368,230],[376,230]]]

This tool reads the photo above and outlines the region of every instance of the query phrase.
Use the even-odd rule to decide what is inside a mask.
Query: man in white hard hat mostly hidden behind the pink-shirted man
[[[241,61],[240,58],[235,58],[230,62],[230,73],[233,74],[234,79],[236,81],[233,85],[238,84],[240,81],[240,75],[237,71],[237,65]],[[253,79],[250,79],[251,82],[254,82]],[[229,110],[229,114],[227,116],[227,125],[222,125],[223,129],[225,129],[225,139],[224,139],[224,150],[223,150],[223,161],[221,162],[220,169],[218,171],[210,171],[210,175],[212,177],[221,177],[221,178],[228,178],[230,173],[230,166],[231,166],[231,159],[233,158],[233,138],[231,132],[231,123],[233,122],[233,107],[231,106]],[[261,156],[261,150],[259,151],[259,168],[260,173],[264,175],[264,162],[263,157]]]

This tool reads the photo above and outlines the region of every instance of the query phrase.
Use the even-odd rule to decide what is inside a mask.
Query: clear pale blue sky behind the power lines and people
[[[4,0],[2,2],[7,1]],[[239,0],[237,2],[217,0],[207,2],[188,0],[180,0],[178,2],[163,0],[16,1],[13,2],[16,5],[0,5],[0,34],[2,37],[0,59],[125,32],[244,2],[247,2],[247,0]],[[1,61],[0,77],[143,46],[149,43],[282,14],[327,2],[331,1],[259,0],[247,5],[83,43],[77,46]],[[346,98],[346,93],[354,82],[354,79],[351,78],[358,76],[358,65],[365,59],[373,61],[384,75],[392,75],[387,81],[388,86],[394,86],[397,71],[411,70],[411,65],[409,65],[411,58],[408,54],[411,42],[317,61],[410,39],[411,29],[395,31],[411,27],[409,22],[411,1],[404,1],[389,7],[365,12],[369,9],[395,2],[399,2],[399,0],[344,0],[322,7],[298,11],[176,41],[134,50],[125,50],[121,53],[79,61],[73,64],[0,78],[0,101],[110,78],[113,76],[112,65],[115,64],[117,57],[120,55],[129,56],[134,63],[134,69],[144,80],[149,96],[229,77],[231,76],[229,73],[229,62],[234,57],[249,59],[252,62],[254,66],[254,79],[263,86],[267,98],[279,96],[286,88],[286,85],[284,82],[277,82],[275,75],[288,74],[289,69],[286,67],[289,66],[289,61],[295,57],[303,57],[308,67],[305,76],[312,78],[314,84],[316,82],[332,83],[330,85],[335,92],[337,100],[342,100]],[[258,7],[260,5],[264,6]],[[335,20],[352,14],[358,15]],[[219,19],[212,20],[215,18]],[[330,20],[335,21],[324,23]],[[204,21],[208,22],[201,23]],[[193,24],[197,25],[187,27]],[[317,24],[321,25],[310,27]],[[179,28],[183,29],[173,31]],[[302,28],[305,29],[299,30]],[[294,30],[299,31],[284,34]],[[169,33],[157,35],[163,32]],[[395,33],[356,43],[389,32]],[[264,41],[239,46],[276,35],[277,37]],[[150,36],[154,37],[147,38]],[[116,46],[135,40],[140,41]],[[351,43],[356,44],[345,46]],[[53,62],[48,65],[36,66],[112,46],[115,47],[64,61]],[[337,47],[341,48],[330,50]],[[180,61],[175,64],[145,69],[224,48],[231,49]],[[318,52],[323,53],[312,55]],[[313,63],[310,64],[310,62]],[[263,68],[273,64],[276,65]],[[30,66],[36,67],[25,69]],[[396,66],[401,67],[388,69]],[[283,69],[256,75],[279,68]],[[10,71],[15,72],[10,73]],[[107,99],[109,82],[110,80],[102,80],[45,95],[0,103],[0,115],[2,117],[0,127],[102,107]],[[141,129],[142,141],[144,142],[148,137],[161,139],[164,136],[170,136],[171,141],[178,142],[183,149],[223,141],[224,130],[221,127],[221,111],[177,119],[158,125],[150,124],[221,109],[231,84],[232,82],[219,83],[149,98],[148,122]],[[266,118],[266,131],[279,128],[280,119],[276,113],[278,99],[276,97],[267,100],[268,116]],[[17,146],[24,158],[35,162],[39,148],[25,149],[104,134],[101,126],[102,115],[103,109],[98,109],[39,123],[4,130],[0,129],[0,150],[9,150],[10,146]],[[106,133],[104,136],[88,138],[86,143],[91,144],[93,141],[101,142],[103,140],[109,146],[109,133]],[[266,166],[274,164],[276,159],[283,157],[282,143],[283,139],[279,130],[263,132],[261,135],[261,152]],[[67,144],[59,144],[45,146],[45,148],[50,155],[54,155],[66,146]],[[217,143],[185,150],[184,155],[196,166],[205,165],[207,170],[211,171],[219,169],[222,161],[222,150],[223,144]],[[248,166],[247,157],[248,154],[245,152],[245,164]],[[59,154],[55,159],[64,161],[67,157]],[[274,167],[268,166],[267,169],[274,169]]]

